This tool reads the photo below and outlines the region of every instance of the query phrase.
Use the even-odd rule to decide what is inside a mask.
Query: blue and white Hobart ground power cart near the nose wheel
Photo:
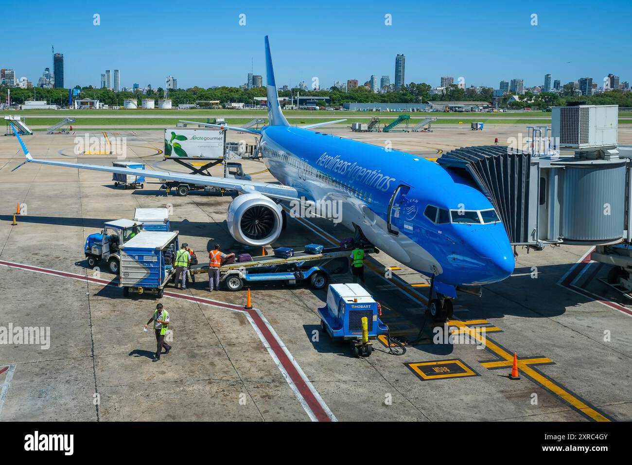
[[[373,352],[371,340],[387,334],[379,305],[359,284],[330,284],[327,304],[318,309],[320,330],[334,340],[349,341],[356,357]]]

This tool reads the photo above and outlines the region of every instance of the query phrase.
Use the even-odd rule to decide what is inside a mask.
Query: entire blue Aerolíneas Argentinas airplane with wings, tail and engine
[[[188,122],[257,135],[265,165],[281,184],[35,159],[16,133],[25,163],[236,190],[240,195],[228,208],[228,229],[234,239],[248,245],[269,245],[278,239],[286,221],[283,201],[308,206],[335,204],[341,208],[337,218],[356,236],[432,277],[437,293],[430,302],[433,316],[451,313],[457,287],[470,287],[471,291],[474,287],[478,292],[480,285],[511,275],[511,244],[482,192],[453,171],[413,154],[311,130],[344,120],[290,126],[279,105],[267,36],[265,59],[269,125],[255,130]]]

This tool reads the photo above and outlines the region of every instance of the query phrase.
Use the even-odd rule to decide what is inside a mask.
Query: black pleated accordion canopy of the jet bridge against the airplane
[[[532,242],[529,196],[534,173],[530,154],[507,153],[506,147],[498,146],[463,147],[447,152],[437,159],[437,163],[466,180],[471,179],[474,187],[487,196],[512,244]],[[467,209],[466,202],[464,204]]]

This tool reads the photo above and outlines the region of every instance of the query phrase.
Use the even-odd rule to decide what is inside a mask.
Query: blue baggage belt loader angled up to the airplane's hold
[[[363,246],[365,253],[377,253],[373,245]],[[295,252],[289,258],[272,255],[252,257],[252,261],[231,263],[219,268],[219,279],[228,290],[241,290],[244,285],[258,282],[281,282],[295,285],[308,282],[314,289],[327,286],[332,275],[349,271],[351,248],[329,247],[320,254]],[[191,267],[191,275],[208,273],[208,265]]]

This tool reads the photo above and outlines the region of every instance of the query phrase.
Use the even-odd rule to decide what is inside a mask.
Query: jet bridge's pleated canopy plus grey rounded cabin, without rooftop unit
[[[625,156],[482,146],[447,152],[437,163],[487,196],[513,245],[616,244],[629,230],[632,171]]]

